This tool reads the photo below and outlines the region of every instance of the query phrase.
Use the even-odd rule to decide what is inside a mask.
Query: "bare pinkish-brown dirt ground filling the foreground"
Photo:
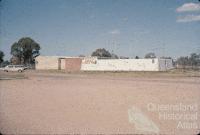
[[[152,74],[0,72],[0,132],[199,133],[200,77]]]

